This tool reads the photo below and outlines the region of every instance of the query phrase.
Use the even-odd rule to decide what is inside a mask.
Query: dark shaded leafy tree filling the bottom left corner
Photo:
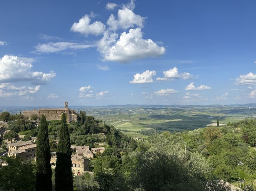
[[[7,157],[5,160],[8,165],[0,168],[0,190],[34,191],[35,166],[19,157]]]

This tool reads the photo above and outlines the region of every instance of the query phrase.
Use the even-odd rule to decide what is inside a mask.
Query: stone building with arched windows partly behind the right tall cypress
[[[52,168],[56,167],[56,161],[57,161],[57,156],[56,155],[52,156],[50,160],[50,164]],[[79,156],[79,155],[72,155],[71,161],[72,161],[71,170],[75,176],[80,176],[83,173],[89,172],[89,159],[83,158],[82,156]]]

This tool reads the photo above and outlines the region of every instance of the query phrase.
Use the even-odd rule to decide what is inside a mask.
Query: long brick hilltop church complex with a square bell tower
[[[75,110],[68,108],[68,102],[65,102],[64,108],[41,108],[32,111],[24,111],[22,114],[24,116],[31,117],[32,114],[37,114],[39,118],[41,118],[43,115],[46,116],[46,120],[61,120],[62,113],[65,113],[67,116],[67,123],[70,123],[72,121],[77,122],[77,113]]]

